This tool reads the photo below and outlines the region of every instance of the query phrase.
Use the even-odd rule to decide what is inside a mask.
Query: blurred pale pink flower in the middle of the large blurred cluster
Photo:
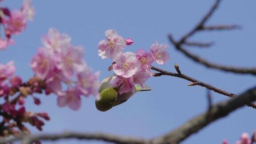
[[[84,65],[84,50],[79,46],[69,46],[60,52],[57,68],[60,69],[65,79],[72,79],[75,68]]]

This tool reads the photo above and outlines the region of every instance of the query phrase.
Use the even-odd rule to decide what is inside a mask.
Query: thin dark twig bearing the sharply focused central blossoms
[[[152,66],[151,69],[159,72],[159,73],[154,73],[153,76],[163,76],[163,75],[166,75],[166,76],[179,77],[181,79],[188,80],[188,81],[192,82],[192,83],[188,84],[188,86],[200,85],[200,86],[202,86],[204,88],[208,88],[209,90],[212,90],[212,91],[217,92],[219,94],[222,94],[224,96],[228,96],[228,97],[231,97],[231,98],[236,96],[236,94],[234,94],[234,93],[226,92],[226,91],[224,91],[224,90],[222,90],[220,88],[216,88],[216,87],[214,87],[214,86],[212,86],[210,84],[206,84],[206,83],[204,83],[204,82],[202,82],[200,80],[196,80],[196,79],[194,79],[194,78],[192,78],[190,76],[186,76],[184,74],[168,72],[168,71],[165,71],[163,69],[156,68],[156,67],[153,67],[153,66]],[[248,107],[256,108],[256,104],[250,103],[250,104],[248,104]]]

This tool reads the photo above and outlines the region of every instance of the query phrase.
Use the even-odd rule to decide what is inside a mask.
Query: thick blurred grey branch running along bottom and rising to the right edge
[[[208,124],[211,124],[215,120],[227,116],[230,112],[255,100],[256,87],[247,90],[246,92],[236,96],[235,98],[213,105],[210,110],[211,115],[208,114],[209,111],[207,110],[203,114],[196,116],[192,120],[189,120],[187,123],[181,125],[174,131],[152,140],[116,136],[104,133],[65,132],[61,134],[41,134],[35,136],[20,135],[11,139],[1,139],[0,144],[6,144],[15,140],[23,140],[22,144],[31,144],[33,141],[36,140],[60,140],[70,138],[84,140],[104,140],[107,142],[114,142],[118,144],[178,144],[182,140],[188,138],[193,133],[200,131]]]

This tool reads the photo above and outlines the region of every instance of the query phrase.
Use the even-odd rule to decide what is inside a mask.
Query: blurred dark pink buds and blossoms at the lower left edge
[[[0,64],[0,97],[4,99],[4,102],[0,104],[1,115],[5,116],[3,119],[5,125],[3,128],[6,134],[17,134],[16,126],[23,132],[28,132],[28,129],[21,122],[29,122],[33,126],[36,126],[39,130],[42,130],[44,122],[39,117],[50,120],[50,117],[46,112],[27,112],[24,107],[25,99],[28,96],[32,96],[35,104],[40,104],[40,100],[33,96],[33,93],[42,93],[41,89],[43,84],[35,78],[32,78],[28,83],[23,83],[20,76],[15,76],[16,68],[14,62],[8,62],[7,64]],[[18,95],[16,95],[18,93]],[[19,108],[16,108],[19,106]],[[16,123],[12,123],[13,118]],[[1,136],[4,136],[1,134]]]

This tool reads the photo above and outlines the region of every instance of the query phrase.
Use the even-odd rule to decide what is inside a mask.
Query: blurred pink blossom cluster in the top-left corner
[[[35,13],[31,5],[32,0],[24,0],[20,10],[0,7],[0,26],[4,28],[4,37],[0,37],[0,50],[5,49],[8,45],[13,44],[12,35],[20,34],[27,26],[28,20],[33,20]],[[0,0],[0,3],[2,0]]]

